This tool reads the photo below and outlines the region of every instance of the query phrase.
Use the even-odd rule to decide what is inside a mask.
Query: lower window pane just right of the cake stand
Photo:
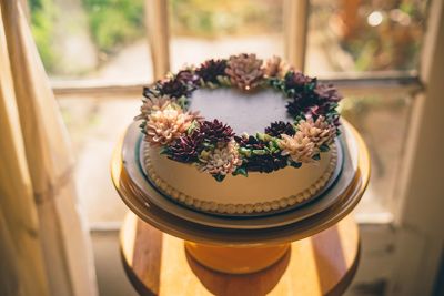
[[[357,206],[360,213],[390,211],[402,169],[411,103],[412,98],[377,94],[349,96],[341,103],[342,116],[361,133],[371,156],[372,174],[363,202]]]

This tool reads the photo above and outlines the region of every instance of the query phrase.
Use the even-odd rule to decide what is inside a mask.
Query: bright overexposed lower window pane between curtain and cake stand
[[[90,222],[118,222],[128,212],[110,176],[112,151],[139,112],[140,99],[58,101],[77,157],[79,200]]]

